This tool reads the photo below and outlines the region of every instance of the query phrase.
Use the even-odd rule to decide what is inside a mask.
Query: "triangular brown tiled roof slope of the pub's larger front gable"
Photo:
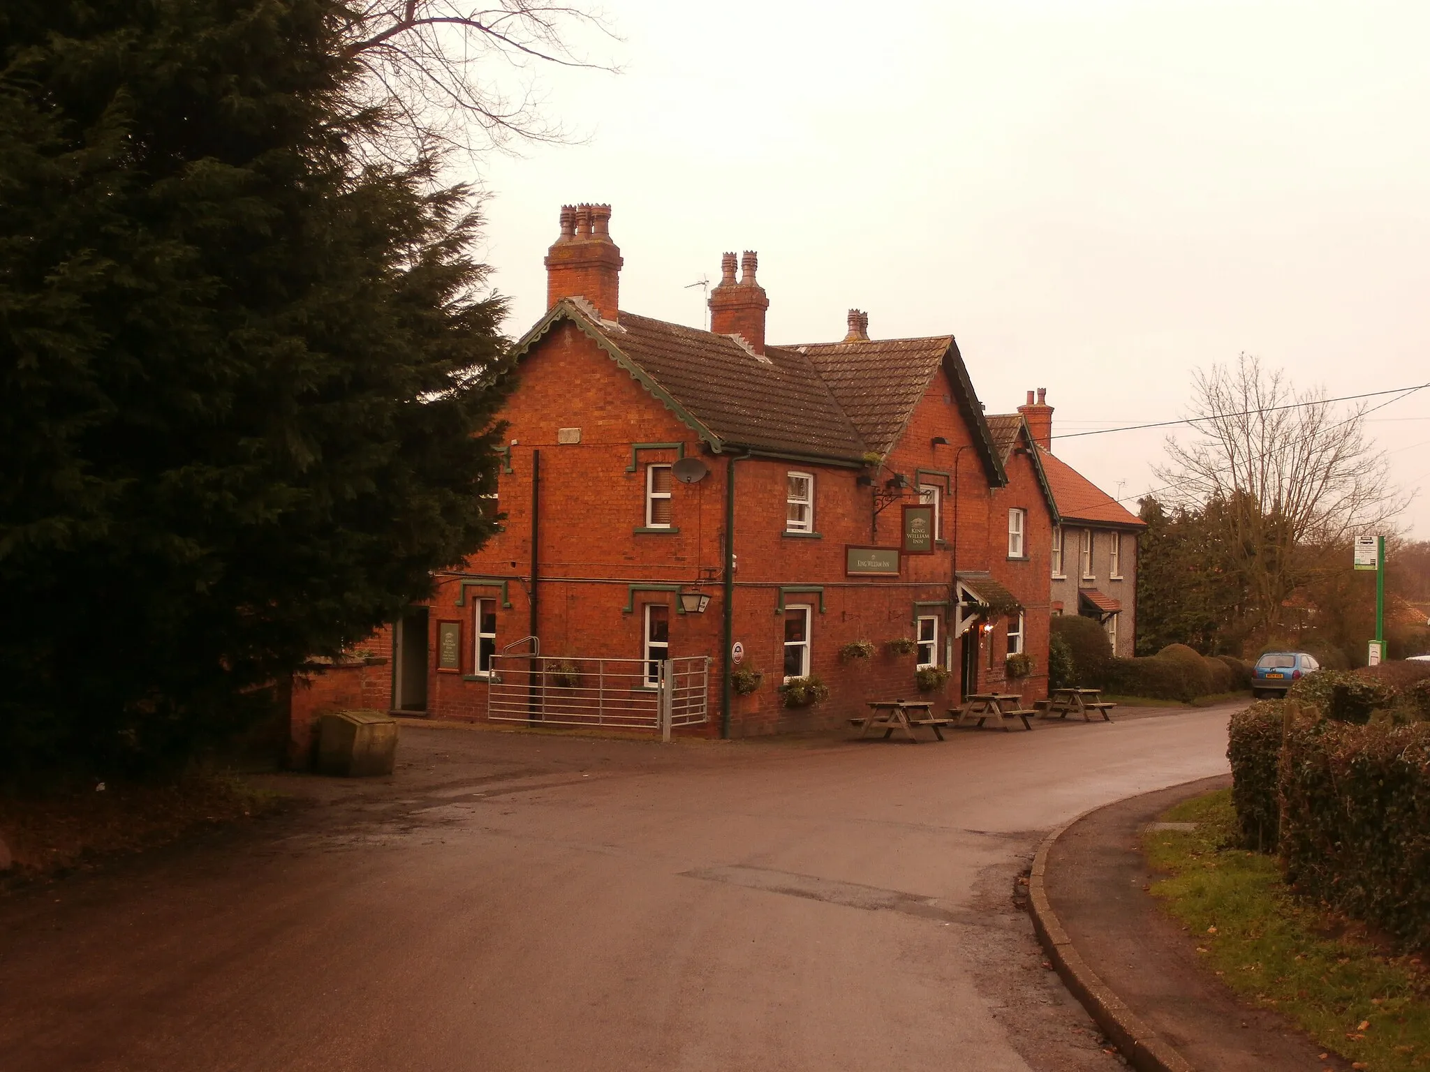
[[[928,390],[951,334],[788,347],[808,354],[871,450],[887,455]]]

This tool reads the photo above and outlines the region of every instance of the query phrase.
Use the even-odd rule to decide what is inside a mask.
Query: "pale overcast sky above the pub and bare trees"
[[[621,306],[704,326],[759,252],[774,343],[952,332],[990,413],[1185,413],[1240,352],[1333,396],[1430,382],[1430,4],[609,0],[622,73],[541,70],[579,143],[492,156],[485,254],[543,312],[562,203],[609,202]],[[1379,400],[1373,400],[1374,402]],[[1430,492],[1430,390],[1371,433]],[[1161,432],[1054,442],[1113,495]],[[1135,503],[1131,503],[1135,510]],[[1430,537],[1430,493],[1404,525]]]

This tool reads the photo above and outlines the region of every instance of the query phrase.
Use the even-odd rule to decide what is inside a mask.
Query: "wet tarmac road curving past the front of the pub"
[[[1017,879],[1231,708],[945,743],[403,726],[386,783],[0,899],[0,1066],[1113,1069]]]

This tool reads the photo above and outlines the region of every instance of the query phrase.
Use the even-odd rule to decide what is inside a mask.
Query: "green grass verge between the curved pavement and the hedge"
[[[1163,819],[1195,830],[1143,836],[1171,878],[1151,893],[1191,932],[1233,991],[1296,1021],[1326,1049],[1371,1072],[1430,1069],[1430,972],[1366,929],[1291,893],[1276,860],[1233,842],[1231,790],[1185,800]]]

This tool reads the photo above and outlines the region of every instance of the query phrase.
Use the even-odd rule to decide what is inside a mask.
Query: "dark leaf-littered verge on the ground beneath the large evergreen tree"
[[[277,793],[229,775],[169,783],[87,782],[47,793],[0,795],[0,838],[11,880],[60,878],[106,856],[140,852],[279,806]]]

